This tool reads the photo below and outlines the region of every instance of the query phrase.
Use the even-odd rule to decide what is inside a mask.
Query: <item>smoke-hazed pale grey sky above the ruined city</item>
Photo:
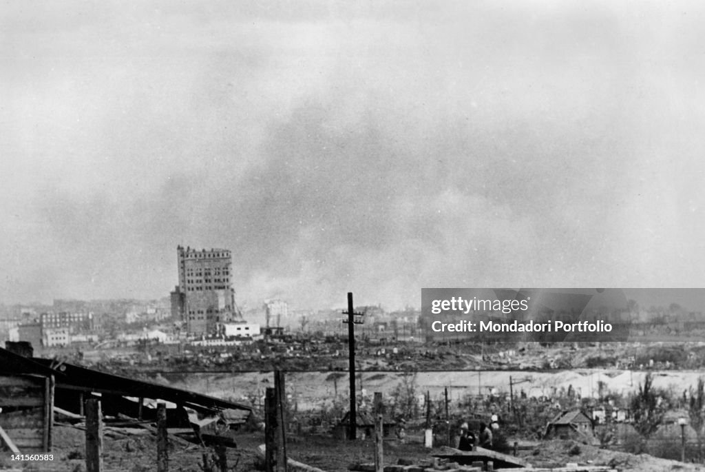
[[[698,1],[3,1],[0,301],[701,287]]]

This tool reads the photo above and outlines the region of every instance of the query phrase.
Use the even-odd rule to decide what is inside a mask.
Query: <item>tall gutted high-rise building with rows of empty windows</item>
[[[189,334],[213,334],[219,323],[238,320],[231,252],[183,246],[176,252],[178,286],[171,292],[171,311],[185,321]]]

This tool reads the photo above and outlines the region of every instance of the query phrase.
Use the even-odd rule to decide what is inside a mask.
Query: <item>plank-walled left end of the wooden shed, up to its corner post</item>
[[[54,373],[0,349],[0,442],[14,454],[51,450]]]

